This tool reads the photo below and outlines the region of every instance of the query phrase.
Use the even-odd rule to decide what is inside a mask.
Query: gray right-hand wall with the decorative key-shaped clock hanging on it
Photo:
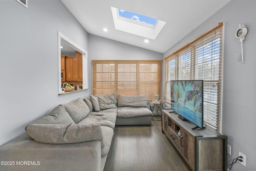
[[[232,171],[256,170],[255,7],[255,0],[232,0],[164,53],[164,57],[168,56],[218,22],[224,22],[222,133],[228,136],[228,144],[232,146],[228,164],[238,157],[238,152],[246,155],[246,167],[237,162]],[[244,41],[244,64],[238,62],[241,48],[235,32],[239,23],[248,27]]]

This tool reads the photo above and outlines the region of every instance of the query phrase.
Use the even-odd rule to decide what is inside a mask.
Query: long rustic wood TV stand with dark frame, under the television
[[[162,133],[165,133],[193,171],[226,171],[228,137],[211,128],[193,129],[171,109],[162,109]]]

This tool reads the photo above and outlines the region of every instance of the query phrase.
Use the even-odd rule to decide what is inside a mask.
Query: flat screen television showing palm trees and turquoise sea
[[[204,128],[203,125],[203,80],[173,80],[170,82],[171,109],[196,125],[192,129]]]

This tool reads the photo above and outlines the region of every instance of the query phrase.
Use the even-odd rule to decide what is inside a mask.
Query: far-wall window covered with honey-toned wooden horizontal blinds
[[[92,94],[161,94],[162,60],[92,60]]]

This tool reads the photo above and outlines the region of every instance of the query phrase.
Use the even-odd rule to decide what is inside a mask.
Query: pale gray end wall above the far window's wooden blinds
[[[144,43],[144,42],[142,42]],[[89,34],[88,65],[94,60],[162,60],[162,54],[129,44]],[[88,70],[89,86],[92,85],[91,65]],[[89,90],[92,93],[91,89]]]

